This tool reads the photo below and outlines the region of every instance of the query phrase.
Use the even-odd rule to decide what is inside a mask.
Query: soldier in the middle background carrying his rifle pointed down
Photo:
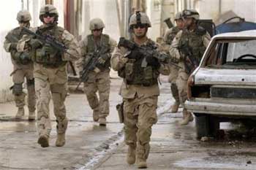
[[[93,119],[99,121],[99,125],[106,125],[106,117],[109,115],[110,93],[110,58],[116,47],[116,41],[108,34],[102,34],[105,25],[99,18],[90,21],[91,34],[80,42],[81,55],[83,56],[80,66],[86,66],[95,51],[105,48],[107,53],[99,55],[97,68],[89,72],[89,79],[84,82],[84,90],[91,109]],[[96,55],[96,53],[94,53]],[[79,63],[78,63],[79,64]],[[99,93],[99,99],[97,97]]]

